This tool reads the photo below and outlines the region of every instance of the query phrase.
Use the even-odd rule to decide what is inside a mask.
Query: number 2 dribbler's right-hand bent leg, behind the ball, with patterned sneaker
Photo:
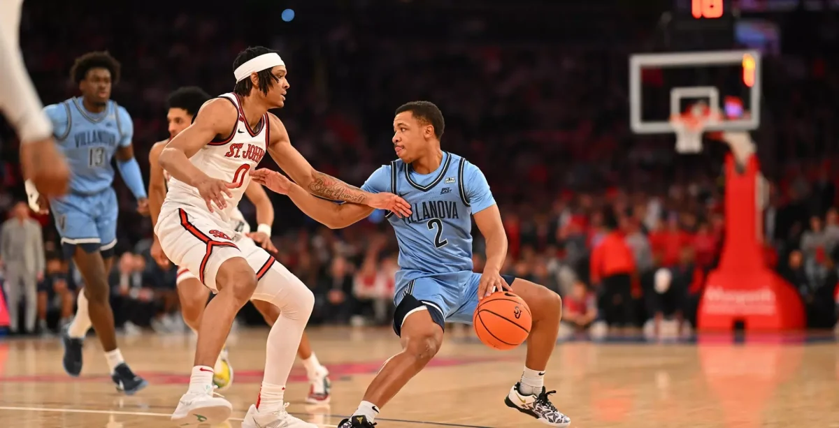
[[[533,326],[527,338],[527,357],[524,361],[524,372],[519,382],[513,385],[504,403],[513,409],[533,416],[539,422],[550,426],[568,426],[571,420],[568,416],[556,410],[550,402],[550,394],[556,391],[545,390],[545,369],[548,366],[550,354],[556,347],[556,338],[560,332],[562,318],[562,300],[554,291],[545,286],[524,281],[513,276],[504,276],[504,280],[513,287],[513,293],[521,297],[530,308],[533,316]],[[477,307],[477,286],[481,275],[470,274],[463,298],[466,301],[451,321],[472,323],[472,314]]]

